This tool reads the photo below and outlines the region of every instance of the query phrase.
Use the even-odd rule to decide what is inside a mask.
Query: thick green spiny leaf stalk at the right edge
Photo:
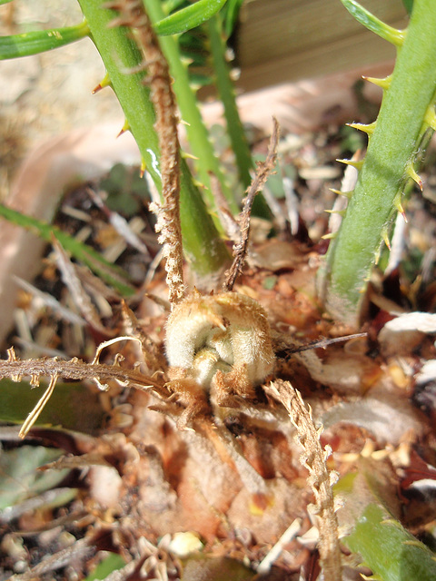
[[[397,212],[404,214],[404,186],[412,179],[421,187],[414,162],[424,133],[435,126],[436,4],[415,0],[405,31],[384,25],[354,0],[342,0],[342,4],[398,49],[391,77],[378,83],[383,100],[377,122],[358,127],[368,133],[368,151],[318,280],[326,309],[336,319],[356,326],[385,233]]]

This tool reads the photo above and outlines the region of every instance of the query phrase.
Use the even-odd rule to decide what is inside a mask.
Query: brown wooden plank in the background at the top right
[[[361,0],[396,28],[401,0]],[[253,91],[392,59],[395,49],[357,23],[340,0],[249,0],[236,37],[238,87]]]

